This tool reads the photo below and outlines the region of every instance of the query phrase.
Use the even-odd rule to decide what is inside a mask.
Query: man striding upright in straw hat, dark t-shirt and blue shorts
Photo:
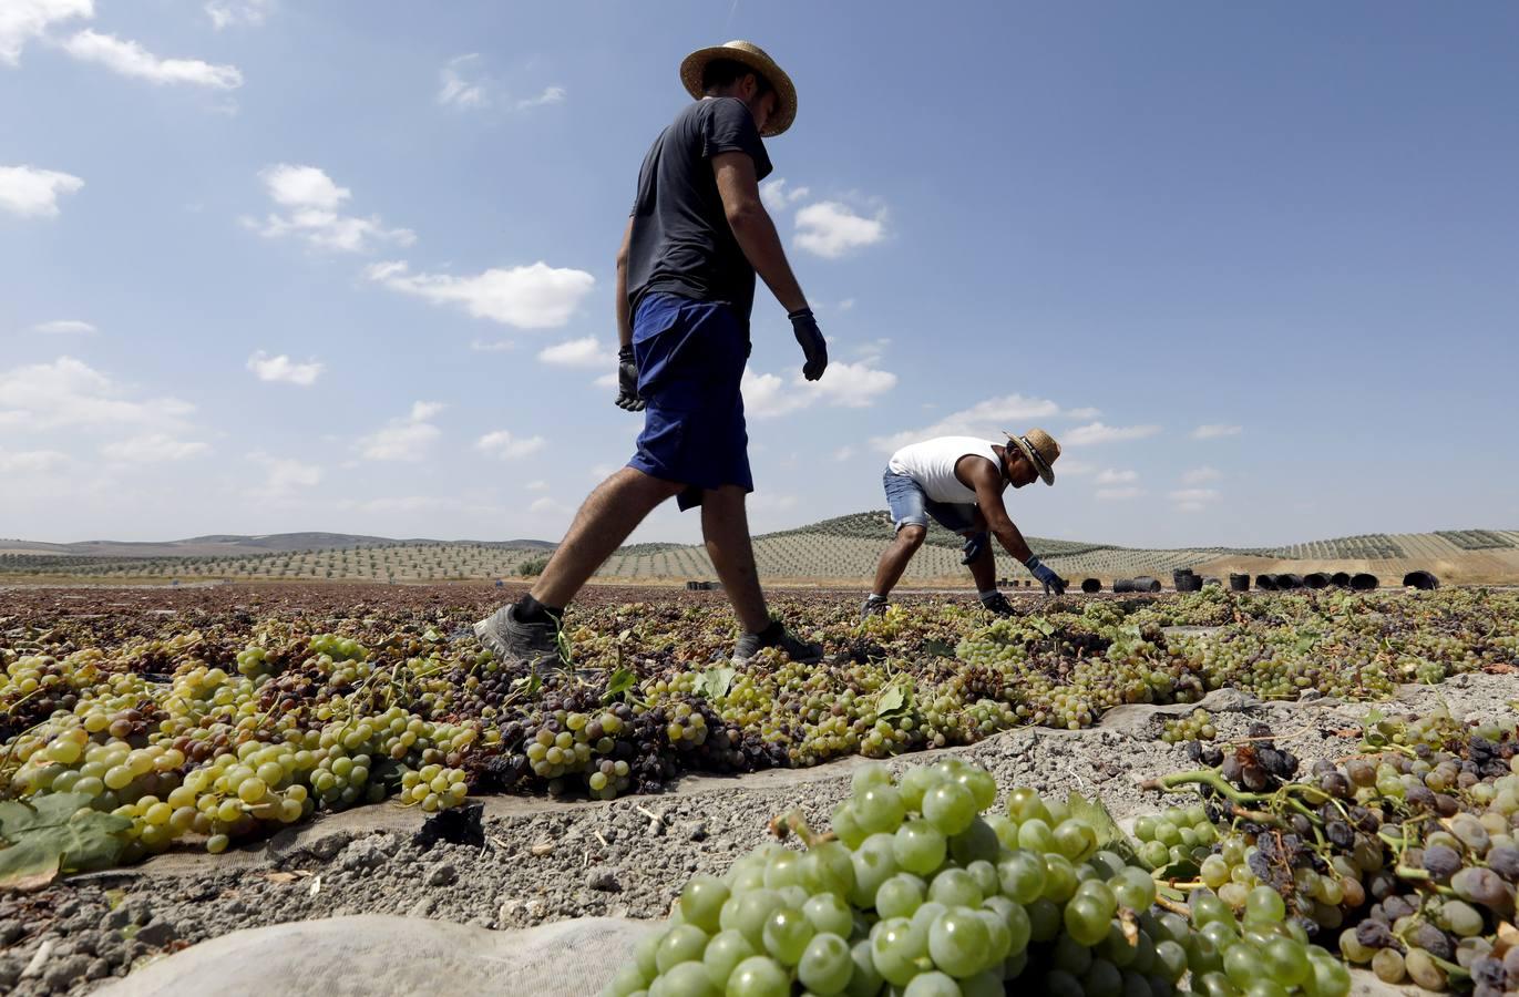
[[[696,97],[661,132],[638,173],[617,252],[617,404],[644,413],[638,453],[580,506],[532,593],[475,623],[506,661],[556,655],[565,606],[655,506],[700,506],[706,553],[738,616],[734,660],[781,647],[816,661],[822,647],[770,620],[744,497],[749,473],[738,385],[749,357],[755,272],[785,307],[807,380],[828,347],[760,201],[770,173],[761,138],[796,117],[791,79],[758,46],[731,41],[693,52],[681,82]]]

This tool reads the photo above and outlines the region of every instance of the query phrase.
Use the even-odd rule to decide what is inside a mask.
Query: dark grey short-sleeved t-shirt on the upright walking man
[[[744,152],[758,179],[770,175],[760,129],[737,97],[688,105],[644,157],[627,252],[632,310],[649,292],[665,292],[728,304],[749,327],[755,269],[738,248],[717,193],[711,160],[720,152]]]

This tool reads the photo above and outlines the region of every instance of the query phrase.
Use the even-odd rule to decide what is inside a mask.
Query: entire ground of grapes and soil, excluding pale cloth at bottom
[[[720,594],[603,587],[532,673],[468,635],[510,591],[0,594],[0,988],[311,916],[676,898],[597,985],[1519,985],[1513,593],[781,597],[826,660],[740,667]]]

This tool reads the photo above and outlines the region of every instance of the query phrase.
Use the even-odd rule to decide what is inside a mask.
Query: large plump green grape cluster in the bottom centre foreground
[[[1183,916],[1104,848],[1123,845],[1100,807],[1015,789],[993,812],[995,798],[992,777],[957,760],[899,783],[861,769],[831,833],[791,816],[801,848],[770,842],[688,881],[606,995],[1349,992],[1271,888],[1240,918],[1208,892]]]

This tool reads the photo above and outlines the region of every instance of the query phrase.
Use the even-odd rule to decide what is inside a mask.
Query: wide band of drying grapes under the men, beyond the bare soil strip
[[[77,795],[131,822],[132,860],[176,840],[220,851],[386,798],[424,810],[472,790],[606,799],[687,771],[1082,728],[1120,704],[1220,687],[1375,701],[1519,663],[1519,596],[1484,590],[1209,588],[1045,599],[1006,619],[975,600],[864,622],[848,599],[781,608],[825,644],[823,663],[767,650],[735,667],[728,608],[674,599],[573,609],[574,667],[545,673],[482,650],[478,606],[33,620],[0,635],[0,799]]]

